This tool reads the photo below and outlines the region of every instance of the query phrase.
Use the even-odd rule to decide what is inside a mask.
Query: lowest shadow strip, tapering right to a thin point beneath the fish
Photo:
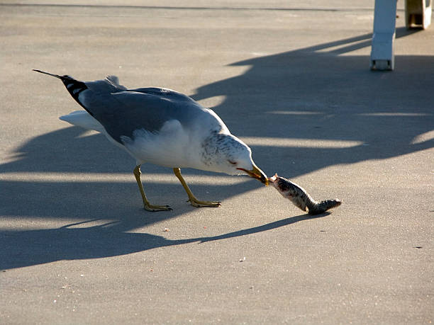
[[[165,246],[230,239],[325,215],[328,213],[316,216],[298,215],[228,234],[174,240],[155,234],[124,232],[125,224],[120,221],[82,227],[86,223],[98,222],[99,219],[67,224],[55,229],[0,230],[0,270],[62,260],[122,256]]]

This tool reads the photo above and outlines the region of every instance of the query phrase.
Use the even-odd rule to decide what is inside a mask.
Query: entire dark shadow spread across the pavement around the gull
[[[399,29],[396,35],[399,38],[409,34]],[[240,137],[358,143],[347,147],[304,147],[277,145],[271,140],[267,145],[250,145],[253,159],[262,170],[277,171],[286,178],[328,166],[388,159],[434,147],[434,139],[425,136],[434,125],[434,56],[397,55],[394,72],[370,72],[369,57],[347,55],[368,46],[370,37],[360,35],[235,62],[231,65],[249,69],[239,76],[201,86],[193,97],[200,101],[224,96],[225,100],[213,109]],[[133,159],[101,135],[84,135],[78,127],[67,127],[34,137],[16,150],[10,162],[0,165],[0,177],[17,172],[130,173],[130,183],[3,179],[0,215],[7,219],[31,216],[65,220],[89,219],[91,215],[112,223],[104,227],[1,230],[0,241],[5,248],[1,252],[1,268],[226,239],[311,218],[291,217],[202,239],[173,241],[152,234],[129,233],[178,217],[191,207],[186,205],[157,215],[143,212],[132,175]],[[167,173],[168,169],[143,166],[145,189],[152,202],[172,204],[174,194],[177,200],[183,195],[184,200],[179,184],[149,183],[147,172]],[[209,173],[184,171],[184,175],[189,174]],[[203,200],[224,200],[259,187],[260,183],[254,180],[228,186],[194,185],[194,193]],[[210,198],[201,195],[206,190]],[[152,198],[152,193],[159,197]]]

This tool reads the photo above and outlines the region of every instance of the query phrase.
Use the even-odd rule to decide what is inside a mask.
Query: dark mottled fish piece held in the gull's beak
[[[330,199],[323,201],[313,200],[304,188],[298,186],[296,183],[292,183],[286,178],[280,177],[277,173],[268,178],[268,182],[284,197],[293,203],[301,210],[308,212],[309,215],[318,215],[323,213],[332,207],[338,207],[342,204],[342,200]]]

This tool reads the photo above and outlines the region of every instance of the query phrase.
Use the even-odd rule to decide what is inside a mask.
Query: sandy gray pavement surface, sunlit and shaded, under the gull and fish
[[[396,24],[370,72],[373,1],[0,3],[1,324],[430,324],[434,28]],[[60,5],[62,4],[62,5]],[[65,5],[66,4],[66,5]],[[253,158],[341,198],[309,217],[257,181],[143,166],[59,115],[116,74],[213,108]]]

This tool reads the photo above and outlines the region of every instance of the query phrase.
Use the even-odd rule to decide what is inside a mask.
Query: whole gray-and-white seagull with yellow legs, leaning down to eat
[[[213,110],[171,89],[126,89],[117,76],[78,81],[72,76],[35,72],[60,79],[84,110],[60,116],[72,125],[96,130],[135,158],[133,170],[143,207],[148,211],[172,210],[152,205],[146,198],[140,166],[144,163],[172,168],[194,207],[218,207],[220,201],[201,201],[191,192],[181,168],[248,176],[268,186],[268,178],[252,160],[252,150],[230,133]]]

